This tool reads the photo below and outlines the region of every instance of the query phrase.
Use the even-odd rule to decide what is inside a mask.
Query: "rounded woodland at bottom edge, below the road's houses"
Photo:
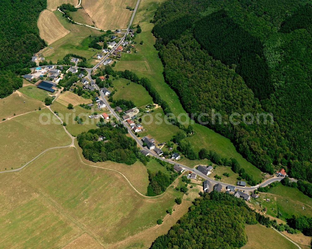
[[[227,248],[236,249],[247,242],[244,224],[262,223],[268,218],[256,214],[242,199],[218,193],[204,194],[165,235],[159,236],[152,249]]]

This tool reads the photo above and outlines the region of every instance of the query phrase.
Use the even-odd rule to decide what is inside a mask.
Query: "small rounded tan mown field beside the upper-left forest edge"
[[[70,31],[61,25],[55,14],[49,10],[41,12],[38,22],[39,35],[47,44],[66,36]]]

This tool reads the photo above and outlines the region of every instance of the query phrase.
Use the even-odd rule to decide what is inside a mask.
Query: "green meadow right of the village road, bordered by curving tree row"
[[[123,78],[115,79],[112,82],[114,84],[114,88],[117,89],[113,95],[113,98],[116,100],[131,100],[137,107],[149,104],[153,101],[148,91],[146,91],[145,88],[139,84]]]

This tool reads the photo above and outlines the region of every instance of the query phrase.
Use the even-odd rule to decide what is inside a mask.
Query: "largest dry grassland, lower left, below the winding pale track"
[[[13,243],[16,248],[35,243],[62,248],[85,233],[102,245],[115,243],[154,227],[181,196],[170,188],[158,198],[142,197],[120,174],[83,165],[74,148],[49,151],[21,172],[0,179],[1,189],[6,189],[0,193],[3,248]],[[41,215],[45,212],[49,215]],[[38,215],[44,218],[37,220]],[[42,227],[47,229],[43,232]]]

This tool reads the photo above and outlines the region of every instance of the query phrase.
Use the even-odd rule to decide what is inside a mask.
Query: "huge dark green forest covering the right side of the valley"
[[[312,179],[311,6],[308,1],[166,1],[153,33],[168,84],[188,113],[222,114],[207,126],[261,170]],[[187,16],[187,18],[185,17]],[[184,19],[189,22],[184,25]],[[185,20],[186,20],[185,19]],[[183,28],[172,23],[180,22]],[[174,35],[172,34],[174,33]],[[229,122],[252,113],[251,125]],[[257,113],[272,113],[265,125]],[[203,121],[206,121],[202,119]],[[247,120],[249,121],[249,120]],[[275,165],[275,166],[274,166]]]

